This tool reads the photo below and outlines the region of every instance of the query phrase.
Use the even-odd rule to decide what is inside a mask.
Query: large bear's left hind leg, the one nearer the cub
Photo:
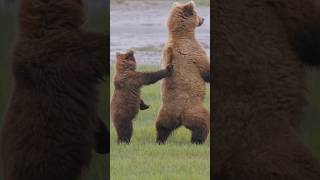
[[[171,132],[178,128],[180,124],[172,121],[167,112],[161,108],[156,122],[157,143],[164,144]]]

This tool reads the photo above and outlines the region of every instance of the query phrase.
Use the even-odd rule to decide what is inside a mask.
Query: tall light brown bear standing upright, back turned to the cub
[[[195,39],[195,28],[203,21],[195,11],[194,2],[175,3],[172,7],[162,63],[166,66],[172,61],[174,71],[161,85],[163,104],[156,122],[158,143],[164,143],[181,125],[192,131],[192,143],[203,143],[209,133],[210,114],[202,103],[205,81],[210,81],[210,65]]]

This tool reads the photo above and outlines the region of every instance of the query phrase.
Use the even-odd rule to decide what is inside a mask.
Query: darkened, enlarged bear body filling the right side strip
[[[297,131],[319,13],[313,0],[214,1],[214,179],[320,179]]]

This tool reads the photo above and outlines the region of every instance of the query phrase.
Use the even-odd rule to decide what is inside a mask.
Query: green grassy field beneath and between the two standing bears
[[[159,68],[140,66],[138,71],[155,71]],[[111,77],[113,74],[111,67]],[[110,83],[112,94],[112,81]],[[160,83],[144,87],[142,98],[151,107],[140,111],[135,118],[130,145],[117,144],[115,129],[111,127],[111,179],[210,179],[210,139],[204,145],[193,145],[190,143],[190,131],[181,127],[169,137],[167,144],[156,144],[154,123],[161,103]],[[209,99],[208,86],[205,100],[208,109]]]

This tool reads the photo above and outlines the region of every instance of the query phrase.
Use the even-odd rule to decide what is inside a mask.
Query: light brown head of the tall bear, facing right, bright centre
[[[201,26],[204,18],[198,16],[196,5],[193,1],[185,4],[174,3],[168,18],[170,32],[190,32]]]

